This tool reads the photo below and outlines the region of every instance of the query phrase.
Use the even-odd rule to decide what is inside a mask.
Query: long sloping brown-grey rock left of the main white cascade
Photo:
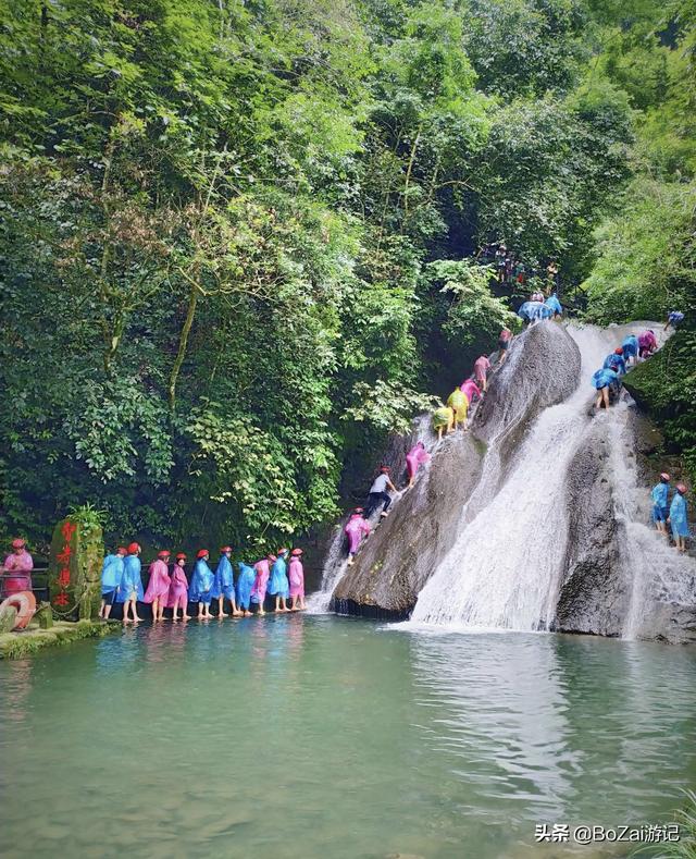
[[[393,503],[388,518],[340,578],[333,609],[339,614],[407,617],[459,532],[488,443],[496,439],[501,475],[526,427],[542,409],[572,393],[579,372],[580,353],[562,327],[545,322],[518,338],[506,365],[492,376],[471,431],[459,430],[439,444],[434,435],[426,437],[432,462]],[[390,463],[402,467],[406,446],[396,444]],[[480,487],[480,494],[485,498],[495,489]]]

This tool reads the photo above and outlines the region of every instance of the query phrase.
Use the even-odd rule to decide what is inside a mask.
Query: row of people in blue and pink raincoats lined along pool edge
[[[137,612],[138,602],[151,605],[152,619],[156,622],[169,619],[164,616],[166,609],[172,611],[172,621],[178,621],[179,617],[190,621],[189,603],[198,606],[199,621],[209,621],[215,616],[228,617],[225,600],[229,603],[233,617],[250,617],[252,605],[257,606],[257,614],[263,615],[266,594],[275,598],[276,613],[306,608],[301,549],[290,551],[282,548],[277,555],[269,553],[253,565],[240,561],[236,581],[231,560],[232,547],[221,548],[214,572],[208,564],[208,549],[200,549],[196,554],[190,582],[186,576],[186,554],[179,552],[171,564],[172,553],[163,549],[150,564],[147,590],[142,587],[140,553],[140,545],[133,542],[127,549],[119,547],[104,557],[99,610],[99,616],[104,621],[109,618],[114,603],[123,605],[124,624],[142,619]],[[289,606],[288,599],[293,601]],[[210,611],[213,601],[217,603],[216,615]]]

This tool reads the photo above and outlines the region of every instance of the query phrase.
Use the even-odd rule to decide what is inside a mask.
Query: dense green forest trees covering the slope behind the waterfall
[[[3,4],[0,527],[45,542],[91,502],[108,537],[261,544],[330,518],[346,464],[510,321],[467,259],[488,241],[564,279],[598,254],[594,316],[661,314],[693,289],[678,14]],[[673,267],[623,286],[633,253]]]

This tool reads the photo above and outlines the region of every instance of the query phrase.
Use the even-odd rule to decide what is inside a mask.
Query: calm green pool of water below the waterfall
[[[4,857],[551,857],[671,820],[696,651],[330,616],[164,624],[0,663]],[[610,855],[624,855],[613,848]]]

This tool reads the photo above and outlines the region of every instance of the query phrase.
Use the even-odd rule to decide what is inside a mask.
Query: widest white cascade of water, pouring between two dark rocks
[[[473,518],[419,594],[411,622],[547,629],[566,552],[566,470],[592,421],[587,384],[616,334],[570,327],[582,357],[575,392],[543,412],[520,445],[507,479]],[[492,442],[495,447],[496,440]],[[486,457],[496,468],[497,457]],[[498,481],[484,464],[481,484]]]

